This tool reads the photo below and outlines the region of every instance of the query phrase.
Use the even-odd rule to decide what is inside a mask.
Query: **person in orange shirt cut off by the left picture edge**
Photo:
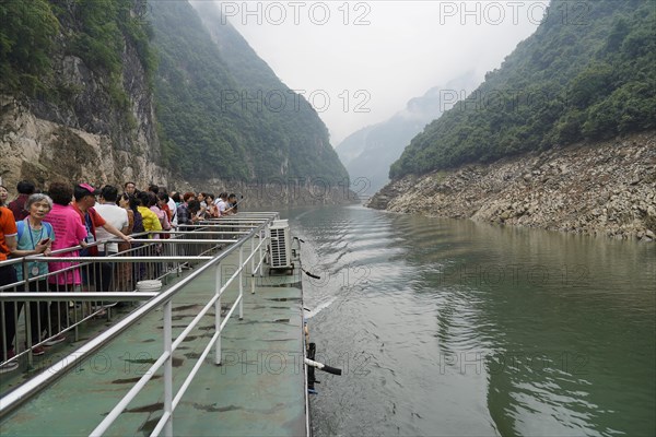
[[[16,222],[13,213],[0,202],[0,262],[5,261],[9,255],[15,250],[16,234]],[[14,282],[16,282],[16,271],[13,265],[0,265],[0,286],[13,284]],[[5,293],[5,291],[1,293]],[[11,344],[16,331],[14,322],[15,307],[13,302],[4,302],[0,303],[0,308],[4,317],[0,320],[0,363],[3,363],[0,365],[0,374],[4,374],[19,368],[19,363],[15,359],[4,363],[15,355]]]

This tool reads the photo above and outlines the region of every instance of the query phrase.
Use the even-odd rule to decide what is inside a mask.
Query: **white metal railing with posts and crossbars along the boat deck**
[[[237,216],[238,215],[238,216]],[[66,290],[65,293],[17,293],[11,292],[15,290],[19,284],[9,284],[0,287],[0,306],[2,306],[2,314],[4,305],[16,305],[16,303],[26,303],[25,308],[30,307],[30,303],[38,303],[46,302],[55,305],[59,305],[58,303],[68,303],[74,302],[77,305],[82,305],[93,302],[138,302],[145,300],[141,304],[141,306],[137,307],[133,311],[127,315],[125,318],[115,323],[107,331],[98,334],[93,338],[81,347],[75,350],[70,355],[66,356],[58,363],[50,366],[45,371],[36,375],[15,390],[11,391],[7,395],[2,398],[2,402],[0,404],[0,417],[5,416],[10,411],[19,408],[21,403],[26,401],[30,397],[37,393],[42,389],[46,388],[49,383],[52,382],[55,378],[60,377],[66,371],[73,368],[75,365],[79,365],[86,357],[90,356],[94,351],[98,350],[103,345],[107,344],[114,338],[116,338],[119,333],[125,331],[127,328],[132,326],[133,323],[141,320],[148,314],[150,314],[155,308],[163,308],[163,318],[164,318],[164,344],[163,352],[160,357],[155,361],[155,363],[151,366],[149,371],[143,375],[143,377],[128,391],[128,393],[117,403],[117,405],[112,410],[112,412],[105,417],[105,420],[98,424],[98,426],[93,430],[92,435],[102,435],[107,430],[107,428],[112,425],[112,423],[121,414],[128,403],[143,389],[143,387],[148,383],[151,376],[154,373],[163,367],[164,369],[164,411],[163,416],[155,426],[152,435],[159,435],[162,430],[165,435],[173,434],[173,412],[176,405],[179,403],[180,399],[185,394],[185,391],[194,380],[196,374],[198,373],[200,366],[206,359],[207,355],[211,352],[212,347],[215,347],[214,354],[214,363],[221,363],[221,331],[230,320],[231,316],[238,308],[239,318],[244,316],[243,309],[243,291],[244,283],[243,276],[246,273],[250,275],[255,275],[259,273],[262,274],[262,263],[266,255],[267,247],[267,233],[266,226],[274,218],[278,217],[278,213],[239,213],[234,217],[230,218],[219,218],[214,221],[208,221],[199,224],[198,226],[194,226],[184,232],[172,232],[172,238],[169,239],[160,239],[153,240],[149,238],[138,238],[132,243],[143,244],[142,247],[161,247],[161,256],[131,256],[129,251],[126,253],[119,253],[119,256],[115,257],[78,257],[78,258],[62,258],[56,257],[60,253],[55,253],[54,257],[26,257],[24,260],[20,260],[19,262],[27,262],[27,261],[46,261],[46,262],[78,262],[77,265],[71,265],[69,269],[83,269],[89,268],[90,265],[97,264],[98,262],[109,262],[112,264],[120,265],[120,264],[129,264],[132,267],[139,264],[148,264],[150,265],[150,273],[155,275],[156,277],[166,279],[167,275],[180,275],[181,269],[186,265],[190,265],[192,263],[202,263],[198,264],[192,271],[184,279],[181,279],[176,284],[171,287],[164,288],[161,292],[156,293],[143,293],[136,292],[134,290],[129,292],[75,292],[73,290]],[[142,235],[143,236],[143,235]],[[238,239],[235,239],[235,236],[238,236]],[[210,238],[208,238],[210,237]],[[211,238],[211,237],[220,237],[220,238]],[[249,244],[248,244],[249,241]],[[106,244],[107,241],[99,241],[98,244]],[[219,246],[221,248],[219,248]],[[227,247],[223,247],[223,245],[229,245]],[[132,249],[130,249],[132,250]],[[145,250],[145,249],[144,249]],[[185,255],[179,255],[178,252],[185,252]],[[245,257],[245,251],[247,251]],[[237,253],[235,253],[237,252]],[[165,253],[165,255],[164,255]],[[172,255],[175,253],[175,255]],[[186,253],[199,253],[199,255],[186,255]],[[231,255],[238,256],[238,268],[236,271],[224,282],[222,277],[222,261],[225,260]],[[16,261],[13,261],[16,262]],[[155,267],[154,264],[159,263],[160,267]],[[152,264],[152,265],[151,265]],[[164,269],[164,265],[168,265],[169,269]],[[26,265],[26,264],[25,264]],[[250,269],[246,269],[247,265]],[[172,333],[172,299],[175,295],[177,295],[180,291],[183,291],[188,284],[192,283],[199,275],[208,272],[208,270],[214,269],[214,294],[204,305],[203,309],[194,318],[194,320],[184,329],[184,331],[176,338],[173,339]],[[61,273],[61,270],[58,272]],[[157,273],[162,273],[157,276]],[[39,279],[36,279],[39,280]],[[43,277],[40,277],[43,280]],[[229,286],[233,284],[234,281],[237,281],[238,287],[238,296],[235,302],[232,304],[229,309],[226,316],[221,317],[221,297],[222,294],[227,290]],[[25,284],[32,281],[24,281]],[[253,287],[255,287],[255,281],[251,281]],[[22,283],[21,283],[22,284]],[[251,290],[254,293],[254,288]],[[179,388],[177,393],[173,392],[173,371],[172,371],[172,358],[173,353],[179,346],[179,344],[185,340],[189,332],[198,324],[201,318],[210,310],[214,308],[214,329],[215,332],[211,338],[210,342],[207,344],[202,354],[198,358],[198,362],[195,364],[194,368],[185,379],[183,386]],[[25,310],[25,318],[23,321],[23,330],[27,343],[27,347],[22,353],[17,354],[13,359],[19,359],[21,355],[26,355],[27,361],[31,363],[32,352],[31,352],[31,339],[30,339],[30,310]],[[95,312],[85,314],[85,317],[82,319],[75,319],[74,324],[67,327],[61,332],[70,331],[71,329],[77,329],[81,323],[93,318]],[[14,322],[17,322],[17,317],[14,318]],[[0,322],[4,323],[5,320],[0,320]],[[17,332],[19,330],[16,330]],[[4,331],[5,332],[5,331]],[[48,332],[49,338],[56,335],[57,333]],[[16,335],[17,338],[17,335]],[[7,339],[11,340],[11,339]],[[8,341],[4,341],[4,344]],[[17,339],[16,339],[17,340]],[[44,343],[43,340],[40,343]],[[40,344],[39,343],[39,344]],[[16,341],[16,345],[20,344]]]

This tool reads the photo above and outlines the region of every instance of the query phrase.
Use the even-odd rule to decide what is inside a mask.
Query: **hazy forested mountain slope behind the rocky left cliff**
[[[151,3],[157,117],[168,165],[191,180],[321,180],[348,174],[312,106],[212,2]],[[202,16],[202,19],[201,19]]]

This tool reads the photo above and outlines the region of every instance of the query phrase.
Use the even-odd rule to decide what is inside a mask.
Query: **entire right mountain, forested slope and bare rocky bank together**
[[[372,208],[656,239],[656,7],[552,0],[536,33],[412,139]]]

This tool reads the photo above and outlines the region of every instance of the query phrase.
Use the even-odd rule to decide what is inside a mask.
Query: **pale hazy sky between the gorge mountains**
[[[501,66],[547,0],[222,1],[218,7],[289,87],[302,90],[333,146],[433,86]],[[467,90],[471,92],[473,90]]]

